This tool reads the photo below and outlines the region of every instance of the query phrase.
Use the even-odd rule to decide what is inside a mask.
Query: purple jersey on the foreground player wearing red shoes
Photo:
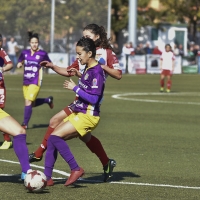
[[[105,74],[100,64],[85,70],[79,81],[79,88],[88,94],[98,95],[99,100],[96,104],[92,105],[79,96],[74,107],[74,112],[99,116],[99,107],[103,97],[105,80]]]

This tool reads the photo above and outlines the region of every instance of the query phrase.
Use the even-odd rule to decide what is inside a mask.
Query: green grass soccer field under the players
[[[29,193],[19,179],[13,149],[1,150],[0,199],[200,199],[199,79],[200,75],[174,75],[172,92],[167,94],[159,93],[159,75],[124,75],[120,81],[108,78],[101,121],[93,134],[117,161],[110,181],[102,182],[98,158],[79,139],[73,139],[68,144],[86,172],[84,177],[64,187],[70,170],[59,156],[53,174],[56,184],[43,193]],[[74,98],[73,92],[62,88],[64,80],[58,75],[44,76],[39,97],[54,96],[55,107],[34,108],[27,130],[30,153],[40,144],[50,118]],[[22,75],[5,75],[5,81],[5,110],[21,123]],[[44,159],[32,168],[43,171],[43,164]]]

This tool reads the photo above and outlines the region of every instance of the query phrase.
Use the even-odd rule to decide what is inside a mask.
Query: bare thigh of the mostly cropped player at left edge
[[[12,136],[25,134],[24,128],[11,116],[0,119],[0,129]]]

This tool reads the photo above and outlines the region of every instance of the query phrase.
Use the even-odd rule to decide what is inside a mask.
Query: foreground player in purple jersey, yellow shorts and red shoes
[[[103,97],[105,74],[101,65],[95,60],[94,41],[82,37],[76,45],[76,54],[80,63],[86,65],[86,69],[78,86],[71,79],[64,82],[64,88],[78,94],[78,99],[74,103],[73,113],[66,117],[49,136],[44,170],[49,186],[53,185],[51,176],[57,151],[71,168],[71,174],[65,186],[71,185],[84,174],[84,170],[78,166],[65,140],[87,135],[96,128],[100,119],[100,102]]]

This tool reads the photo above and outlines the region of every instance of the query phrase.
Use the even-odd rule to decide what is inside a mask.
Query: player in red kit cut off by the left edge
[[[13,63],[11,62],[8,54],[2,48],[3,46],[3,38],[0,34],[0,108],[4,109],[6,103],[6,87],[4,83],[3,73],[9,71],[13,67]],[[9,149],[12,146],[12,140],[7,133],[3,133],[4,142],[0,146],[0,149]]]

